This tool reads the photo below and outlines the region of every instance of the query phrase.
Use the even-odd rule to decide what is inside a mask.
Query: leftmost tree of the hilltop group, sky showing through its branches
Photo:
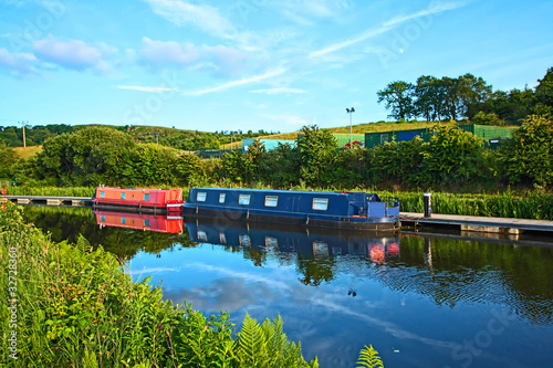
[[[392,109],[388,117],[405,120],[414,115],[413,94],[415,86],[404,81],[389,83],[385,90],[378,91],[378,104],[384,102],[386,109]]]

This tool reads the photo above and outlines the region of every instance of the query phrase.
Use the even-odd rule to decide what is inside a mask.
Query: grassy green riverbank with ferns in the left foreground
[[[0,360],[13,367],[317,367],[282,332],[163,301],[148,280],[81,236],[54,243],[21,208],[0,208]]]

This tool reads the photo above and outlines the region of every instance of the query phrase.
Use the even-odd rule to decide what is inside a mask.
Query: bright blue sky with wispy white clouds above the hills
[[[534,87],[551,14],[550,0],[0,0],[0,125],[386,120],[376,92],[394,81]]]

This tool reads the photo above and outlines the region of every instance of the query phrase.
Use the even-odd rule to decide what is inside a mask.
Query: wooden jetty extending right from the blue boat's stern
[[[457,215],[432,213],[424,217],[421,213],[401,212],[401,224],[425,227],[456,227],[461,231],[478,231],[517,235],[526,231],[553,232],[553,221],[488,218],[476,215]]]

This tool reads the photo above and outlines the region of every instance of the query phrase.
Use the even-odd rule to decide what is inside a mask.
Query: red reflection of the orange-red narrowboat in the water
[[[92,211],[100,228],[114,227],[163,233],[181,233],[182,218],[139,212]]]

